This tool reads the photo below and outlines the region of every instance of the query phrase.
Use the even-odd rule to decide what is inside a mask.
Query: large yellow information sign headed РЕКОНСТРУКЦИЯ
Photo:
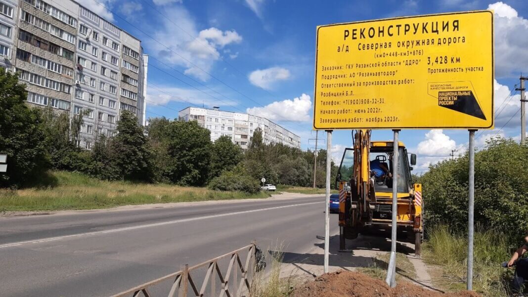
[[[314,129],[493,128],[493,12],[317,27]]]

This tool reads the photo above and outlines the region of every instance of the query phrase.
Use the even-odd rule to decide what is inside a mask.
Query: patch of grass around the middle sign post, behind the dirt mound
[[[389,267],[390,253],[379,254],[374,258],[374,264],[369,267],[361,267],[357,271],[374,277],[374,279],[385,280]],[[414,265],[405,254],[396,253],[396,280],[416,279]]]

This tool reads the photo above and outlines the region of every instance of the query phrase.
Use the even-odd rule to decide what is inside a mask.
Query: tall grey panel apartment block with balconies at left
[[[19,72],[27,102],[87,113],[80,147],[114,135],[120,110],[145,124],[141,41],[71,0],[0,0],[0,67]]]

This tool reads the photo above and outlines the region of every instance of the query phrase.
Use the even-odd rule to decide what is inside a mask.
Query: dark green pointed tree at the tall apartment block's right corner
[[[121,179],[152,180],[152,150],[135,114],[122,111],[116,130],[118,134],[111,143],[112,159]]]

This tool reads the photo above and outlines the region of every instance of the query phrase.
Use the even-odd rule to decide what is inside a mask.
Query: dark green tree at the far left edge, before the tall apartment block
[[[26,99],[17,75],[0,69],[0,152],[7,154],[3,186],[20,185],[49,167],[41,111],[29,108]]]

